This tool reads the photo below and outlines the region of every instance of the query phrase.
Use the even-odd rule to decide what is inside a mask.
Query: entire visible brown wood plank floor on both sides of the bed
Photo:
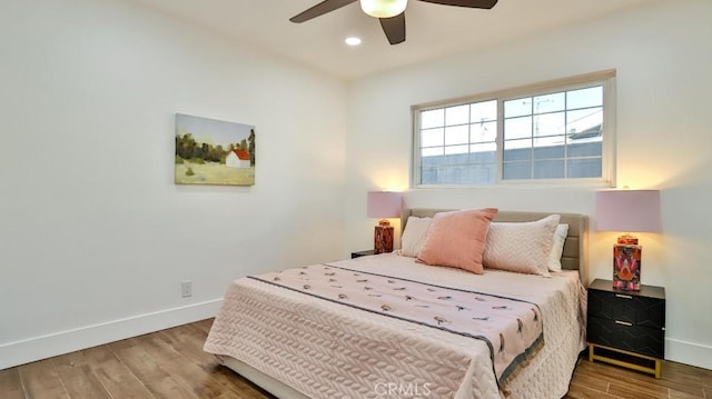
[[[0,370],[0,398],[273,398],[202,351],[212,320]],[[662,378],[578,361],[566,399],[712,399],[712,371],[670,361]]]

